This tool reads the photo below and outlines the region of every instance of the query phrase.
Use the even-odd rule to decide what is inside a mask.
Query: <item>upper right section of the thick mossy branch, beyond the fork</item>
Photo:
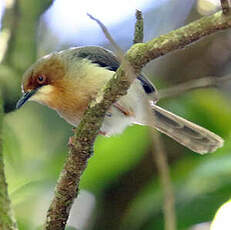
[[[163,56],[218,31],[231,26],[231,15],[223,15],[219,11],[205,16],[177,30],[161,35],[146,43],[133,45],[127,52],[127,59],[131,62],[136,73],[149,61]]]

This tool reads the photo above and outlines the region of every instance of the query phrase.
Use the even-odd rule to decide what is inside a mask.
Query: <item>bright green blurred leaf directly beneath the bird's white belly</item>
[[[94,193],[102,192],[108,183],[131,170],[142,159],[148,151],[149,142],[146,127],[131,127],[121,136],[109,139],[99,137],[95,156],[89,161],[81,187]]]

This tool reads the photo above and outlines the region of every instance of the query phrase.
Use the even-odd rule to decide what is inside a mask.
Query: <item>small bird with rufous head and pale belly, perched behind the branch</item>
[[[25,73],[19,109],[31,100],[57,111],[68,123],[78,126],[88,104],[120,66],[109,50],[97,46],[74,47],[40,58]],[[148,106],[153,111],[150,121]],[[209,130],[168,112],[155,103],[157,90],[143,75],[132,83],[125,96],[107,112],[100,134],[121,133],[132,124],[148,125],[173,138],[194,152],[213,152],[223,139]]]

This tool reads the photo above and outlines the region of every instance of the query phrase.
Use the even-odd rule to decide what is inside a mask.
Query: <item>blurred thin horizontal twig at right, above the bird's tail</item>
[[[161,89],[159,90],[158,95],[160,99],[172,98],[195,89],[218,87],[221,84],[224,84],[225,82],[230,80],[231,80],[231,75],[227,75],[223,77],[211,76],[211,77],[200,78],[200,79],[184,82],[167,89]]]

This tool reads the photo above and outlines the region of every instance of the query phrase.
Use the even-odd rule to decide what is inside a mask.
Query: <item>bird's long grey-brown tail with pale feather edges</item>
[[[223,146],[223,139],[209,130],[157,105],[153,105],[152,109],[155,121],[152,126],[194,152],[205,154]]]

